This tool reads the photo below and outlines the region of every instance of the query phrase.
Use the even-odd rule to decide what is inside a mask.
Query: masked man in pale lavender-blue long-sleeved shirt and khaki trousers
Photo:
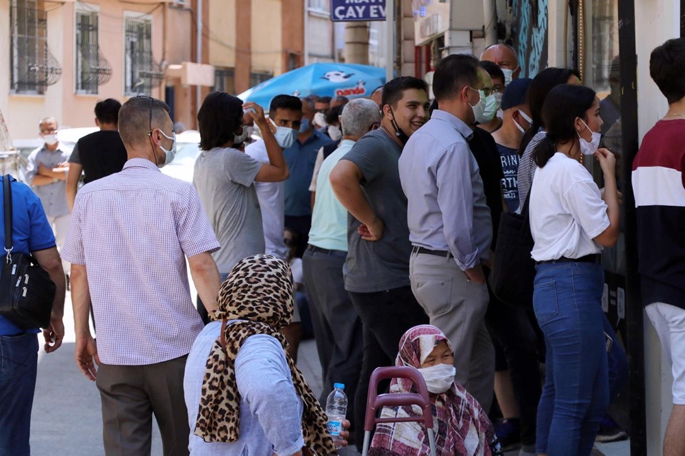
[[[433,76],[440,109],[407,142],[399,176],[408,199],[410,279],[416,300],[459,350],[456,381],[490,408],[495,351],[484,324],[492,220],[466,142],[485,103],[478,60],[449,55]]]

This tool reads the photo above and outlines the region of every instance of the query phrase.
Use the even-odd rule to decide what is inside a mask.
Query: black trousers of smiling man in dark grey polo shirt
[[[354,420],[358,423],[357,429],[362,429],[371,372],[377,367],[395,366],[402,335],[416,325],[427,325],[428,316],[410,286],[373,293],[349,292],[349,296],[362,319],[364,335],[362,370],[354,396]],[[358,448],[363,442],[364,433],[356,432]]]

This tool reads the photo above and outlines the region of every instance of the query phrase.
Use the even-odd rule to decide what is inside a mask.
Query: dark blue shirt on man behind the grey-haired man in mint
[[[295,144],[283,150],[290,171],[290,177],[284,182],[286,216],[301,217],[312,214],[312,193],[309,191],[309,184],[314,175],[316,154],[321,147],[331,142],[330,138],[314,129],[312,136],[305,142],[296,140]]]

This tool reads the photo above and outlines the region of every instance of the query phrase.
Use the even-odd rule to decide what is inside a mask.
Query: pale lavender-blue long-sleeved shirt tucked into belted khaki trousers
[[[493,240],[483,181],[466,142],[471,134],[460,119],[435,110],[409,138],[399,159],[410,241],[451,252],[462,270],[488,259]]]

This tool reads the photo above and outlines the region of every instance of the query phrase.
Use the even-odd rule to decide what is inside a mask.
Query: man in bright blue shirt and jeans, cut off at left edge
[[[40,199],[24,183],[12,178],[12,252],[31,253],[55,283],[50,326],[43,329],[45,351],[51,353],[64,338],[64,269]],[[0,186],[0,201],[3,201]],[[0,210],[1,226],[5,214]],[[0,229],[5,245],[5,230]],[[0,454],[28,455],[31,408],[36,388],[40,329],[24,331],[0,316]]]

